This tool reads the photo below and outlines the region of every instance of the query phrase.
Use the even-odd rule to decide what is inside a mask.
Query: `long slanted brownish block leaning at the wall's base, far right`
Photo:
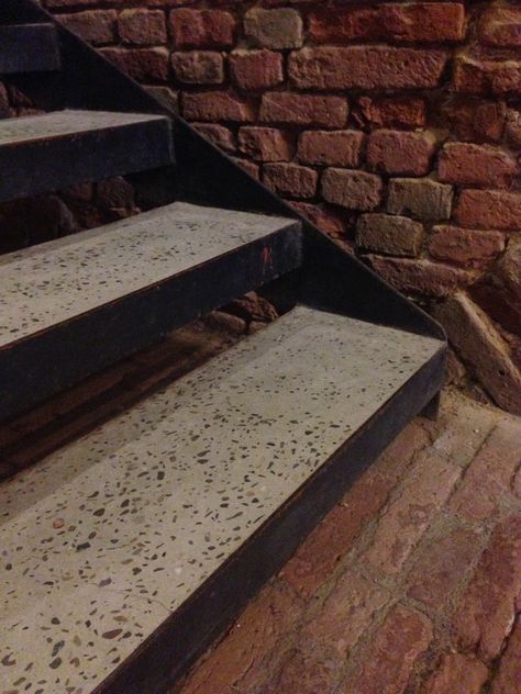
[[[487,383],[494,400],[506,410],[521,414],[521,373],[487,315],[462,293],[436,305],[433,313],[464,361]]]

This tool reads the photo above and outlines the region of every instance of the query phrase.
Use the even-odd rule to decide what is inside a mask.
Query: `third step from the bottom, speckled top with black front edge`
[[[65,110],[0,120],[0,200],[173,164],[170,121]]]

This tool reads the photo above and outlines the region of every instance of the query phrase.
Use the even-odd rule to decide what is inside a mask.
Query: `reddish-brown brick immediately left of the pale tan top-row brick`
[[[222,10],[171,10],[169,26],[176,48],[232,46],[235,20]]]

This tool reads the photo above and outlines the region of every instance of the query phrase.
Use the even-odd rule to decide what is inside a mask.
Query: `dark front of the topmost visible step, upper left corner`
[[[0,25],[0,75],[44,72],[60,67],[53,24]]]

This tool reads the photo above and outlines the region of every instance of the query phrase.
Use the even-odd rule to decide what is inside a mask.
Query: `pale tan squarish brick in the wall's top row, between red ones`
[[[296,10],[289,8],[254,8],[244,15],[244,33],[253,46],[299,48],[303,37],[302,19]]]

